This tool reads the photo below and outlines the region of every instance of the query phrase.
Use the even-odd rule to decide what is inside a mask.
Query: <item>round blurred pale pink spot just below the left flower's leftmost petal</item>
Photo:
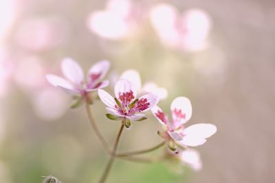
[[[54,120],[61,117],[68,106],[68,98],[56,88],[44,88],[34,95],[33,106],[36,114],[45,120]]]

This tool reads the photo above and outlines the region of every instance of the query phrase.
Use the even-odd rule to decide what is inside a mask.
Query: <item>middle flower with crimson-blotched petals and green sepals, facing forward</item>
[[[98,90],[98,96],[107,106],[109,113],[106,116],[112,120],[122,120],[126,127],[131,125],[131,121],[142,121],[146,119],[145,112],[150,110],[159,102],[159,97],[148,93],[135,99],[137,88],[129,80],[121,79],[115,84],[115,98],[104,90]]]

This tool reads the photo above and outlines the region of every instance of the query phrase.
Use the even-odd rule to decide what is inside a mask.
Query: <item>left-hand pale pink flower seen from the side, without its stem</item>
[[[61,70],[66,79],[52,74],[47,74],[46,79],[50,84],[62,88],[67,93],[85,96],[91,91],[109,85],[108,80],[101,81],[109,70],[109,66],[110,62],[107,60],[102,60],[91,66],[86,82],[80,65],[71,58],[65,58],[61,63]]]

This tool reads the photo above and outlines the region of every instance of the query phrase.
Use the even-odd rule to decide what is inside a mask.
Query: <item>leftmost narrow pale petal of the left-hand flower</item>
[[[57,75],[47,74],[46,80],[52,84],[53,86],[57,86],[67,91],[68,93],[79,93],[78,90],[72,86],[67,80],[63,79],[63,77],[59,77]]]

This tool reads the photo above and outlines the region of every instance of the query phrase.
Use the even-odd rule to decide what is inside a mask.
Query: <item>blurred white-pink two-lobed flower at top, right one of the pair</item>
[[[150,19],[157,35],[168,47],[198,51],[208,46],[206,38],[212,23],[203,10],[190,9],[180,15],[173,5],[162,3],[151,9]]]

